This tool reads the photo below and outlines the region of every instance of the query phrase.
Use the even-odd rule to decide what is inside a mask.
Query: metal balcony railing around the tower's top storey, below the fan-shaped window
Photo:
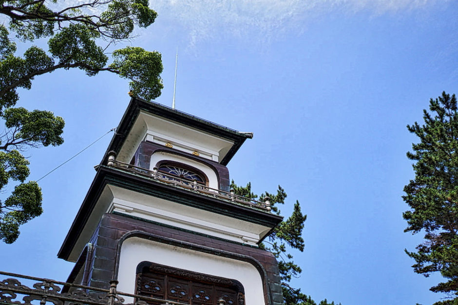
[[[173,185],[175,187],[185,189],[191,192],[195,192],[201,195],[214,197],[220,200],[229,201],[232,203],[252,207],[255,209],[260,209],[260,210],[267,211],[267,212],[270,212],[271,210],[269,197],[265,197],[264,202],[258,201],[255,199],[251,199],[251,198],[247,198],[247,197],[242,197],[242,196],[234,194],[234,190],[230,190],[230,192],[226,192],[223,190],[214,189],[209,186],[198,183],[197,180],[191,181],[191,180],[186,180],[186,179],[180,179],[179,177],[160,172],[157,170],[157,168],[153,168],[153,170],[149,170],[149,169],[135,166],[129,163],[116,161],[114,160],[114,158],[110,158],[110,157],[109,157],[107,165],[110,167],[115,167],[118,169],[122,169],[124,171],[134,173],[136,175],[140,175],[147,179],[152,179],[160,183]]]

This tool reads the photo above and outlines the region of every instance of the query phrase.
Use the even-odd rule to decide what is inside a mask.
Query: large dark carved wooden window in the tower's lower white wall
[[[191,305],[245,305],[239,281],[142,262],[137,266],[136,293]],[[164,302],[150,302],[150,305]]]

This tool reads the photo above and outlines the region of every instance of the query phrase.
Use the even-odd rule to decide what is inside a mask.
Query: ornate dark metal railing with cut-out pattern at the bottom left
[[[133,298],[135,303],[129,305],[189,305],[116,291],[116,280],[110,282],[110,289],[101,289],[3,271],[0,279],[0,305],[124,305],[125,298]],[[32,282],[33,288],[20,281]],[[217,301],[226,304],[224,299]]]

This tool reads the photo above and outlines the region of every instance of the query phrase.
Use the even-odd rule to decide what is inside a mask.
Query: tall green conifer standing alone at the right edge
[[[447,280],[431,287],[445,292],[449,300],[436,303],[458,304],[458,115],[457,99],[445,92],[430,100],[423,110],[424,124],[407,126],[420,142],[412,144],[407,158],[415,178],[404,187],[402,198],[410,206],[403,213],[407,220],[404,232],[424,232],[425,241],[416,252],[405,250],[416,264],[414,271],[429,276],[439,271]]]

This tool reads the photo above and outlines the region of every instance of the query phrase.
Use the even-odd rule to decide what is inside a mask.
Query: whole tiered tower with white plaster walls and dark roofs
[[[229,189],[251,133],[132,98],[58,257],[68,282],[180,304],[282,304],[258,244],[282,220]],[[151,304],[163,304],[154,303]]]

